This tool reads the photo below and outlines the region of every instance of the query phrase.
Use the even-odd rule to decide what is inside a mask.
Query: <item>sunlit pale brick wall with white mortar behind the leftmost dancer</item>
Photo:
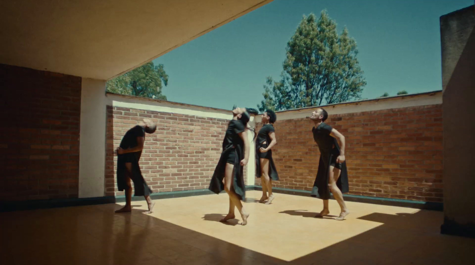
[[[208,189],[218,163],[228,121],[192,115],[107,106],[106,195],[117,191],[117,148],[127,130],[143,118],[157,123],[157,131],[145,134],[140,159],[142,174],[153,192]]]

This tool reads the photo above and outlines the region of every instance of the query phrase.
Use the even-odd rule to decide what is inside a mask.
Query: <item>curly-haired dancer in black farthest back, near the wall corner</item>
[[[270,204],[274,200],[272,180],[279,180],[271,149],[277,143],[276,133],[272,125],[276,122],[276,119],[277,116],[272,110],[267,110],[262,114],[263,125],[257,133],[256,139],[256,176],[261,178],[262,182],[262,197],[259,202],[262,203],[267,200],[266,204]]]

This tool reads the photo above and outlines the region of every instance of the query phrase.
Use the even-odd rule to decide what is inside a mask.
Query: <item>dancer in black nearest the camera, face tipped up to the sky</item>
[[[242,218],[241,225],[245,226],[249,214],[245,211],[241,200],[246,198],[243,166],[249,160],[249,140],[247,138],[247,130],[249,128],[247,123],[250,119],[249,113],[257,114],[257,111],[254,109],[236,108],[232,113],[233,119],[229,121],[223,140],[223,151],[211,178],[209,190],[219,194],[224,189],[228,193],[229,212],[220,221],[226,222],[229,219],[235,218],[234,208],[237,207]]]

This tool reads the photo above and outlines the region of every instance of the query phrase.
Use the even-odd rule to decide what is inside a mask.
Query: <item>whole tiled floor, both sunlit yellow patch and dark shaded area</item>
[[[226,194],[157,200],[150,215],[143,201],[132,214],[114,214],[116,204],[1,213],[1,264],[473,264],[475,239],[441,235],[441,212],[348,202],[336,221],[313,218],[319,199],[247,197],[247,226],[218,222]]]

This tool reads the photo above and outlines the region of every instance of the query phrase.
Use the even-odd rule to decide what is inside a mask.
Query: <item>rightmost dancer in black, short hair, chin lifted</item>
[[[322,108],[317,109],[310,116],[310,119],[315,123],[315,127],[312,128],[314,140],[320,150],[320,161],[312,196],[317,197],[318,195],[320,199],[323,199],[323,210],[315,217],[323,217],[330,213],[328,199],[330,199],[331,191],[342,209],[340,216],[335,219],[343,220],[350,213],[342,195],[342,192],[348,192],[349,189],[345,162],[345,137],[324,123],[327,117],[327,112]],[[341,148],[336,138],[342,143]]]

